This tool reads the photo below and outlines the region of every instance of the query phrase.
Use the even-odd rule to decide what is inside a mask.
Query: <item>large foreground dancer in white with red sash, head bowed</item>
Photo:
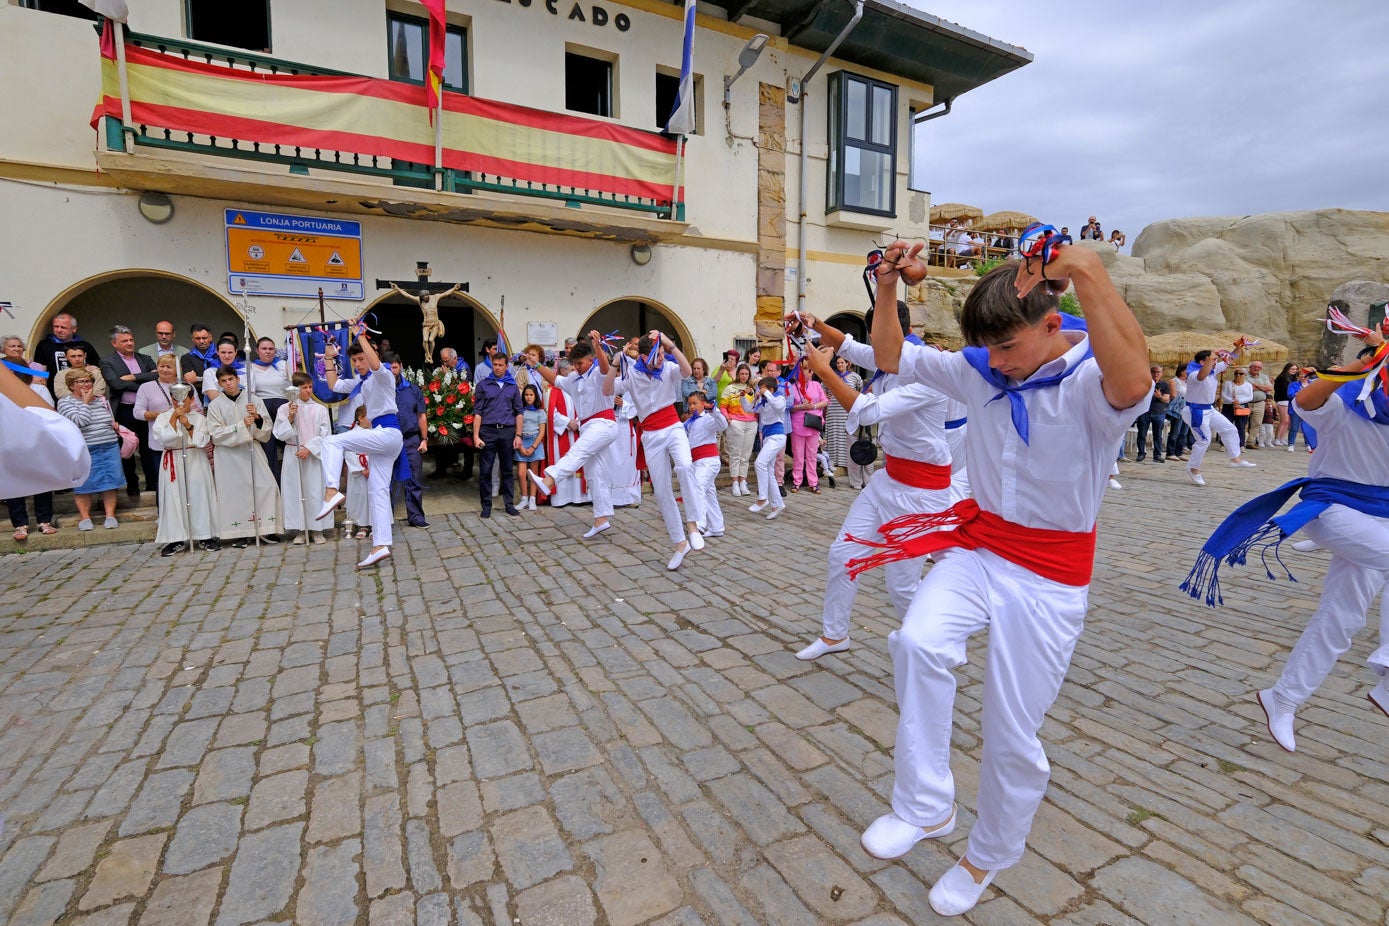
[[[886,550],[849,571],[958,547],[921,580],[901,629],[888,637],[900,709],[896,783],[892,812],[863,834],[870,855],[899,858],[954,829],[953,669],[968,639],[989,629],[978,822],[960,864],[931,889],[931,907],[950,916],[971,909],[1022,857],[1049,776],[1038,730],[1085,623],[1100,500],[1153,382],[1138,319],[1099,255],[1079,247],[1047,247],[986,273],[960,318],[972,348],[946,354],[904,343],[893,311],[897,279],[925,278],[924,247],[895,242],[875,269],[874,358],[903,383],[926,383],[967,405],[974,498],[957,503],[953,516],[888,522],[886,543],[876,544]],[[1089,336],[1061,329],[1054,287],[1068,280]],[[956,530],[935,530],[946,525]]]

